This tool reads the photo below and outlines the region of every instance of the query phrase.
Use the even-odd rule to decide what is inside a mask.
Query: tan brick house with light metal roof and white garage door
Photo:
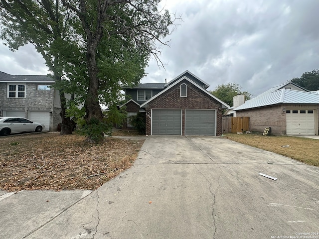
[[[249,117],[249,130],[271,127],[275,135],[318,135],[319,94],[286,82],[236,107],[236,117]]]

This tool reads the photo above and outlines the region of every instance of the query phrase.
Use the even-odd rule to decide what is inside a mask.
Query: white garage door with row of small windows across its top
[[[314,110],[286,110],[287,134],[315,135]]]

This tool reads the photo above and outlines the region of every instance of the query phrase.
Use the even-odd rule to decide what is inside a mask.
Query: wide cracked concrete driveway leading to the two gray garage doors
[[[319,238],[319,168],[220,137],[150,136],[132,168],[83,193],[25,198],[15,215],[19,193],[0,200],[0,238]],[[48,212],[23,222],[23,204]]]

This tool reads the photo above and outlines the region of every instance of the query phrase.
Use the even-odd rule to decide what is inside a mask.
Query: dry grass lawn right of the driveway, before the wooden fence
[[[319,140],[292,136],[225,133],[230,140],[278,153],[319,167]],[[282,147],[289,145],[289,147]]]

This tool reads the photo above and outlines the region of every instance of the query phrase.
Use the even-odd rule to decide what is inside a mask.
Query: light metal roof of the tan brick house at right
[[[319,104],[319,95],[311,92],[279,89],[257,98],[246,101],[245,104],[233,111],[247,110],[252,108],[271,106],[276,104]]]

